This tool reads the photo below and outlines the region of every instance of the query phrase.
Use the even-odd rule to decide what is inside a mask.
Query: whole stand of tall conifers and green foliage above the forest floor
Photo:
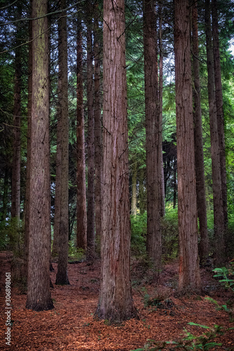
[[[128,0],[125,19],[117,3],[1,2],[0,250],[28,280],[28,308],[53,307],[48,292],[39,306],[32,293],[36,281],[49,289],[51,260],[56,284],[69,284],[68,260],[101,256],[98,316],[136,316],[131,289],[113,278],[129,277],[129,234],[153,279],[181,258],[181,289],[200,289],[198,264],[233,258],[233,1]],[[125,286],[120,315],[107,312],[108,284],[115,301]]]

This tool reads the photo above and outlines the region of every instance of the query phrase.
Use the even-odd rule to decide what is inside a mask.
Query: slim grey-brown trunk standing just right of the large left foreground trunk
[[[58,20],[58,127],[56,167],[59,168],[59,191],[56,191],[60,218],[58,218],[58,272],[56,284],[70,284],[67,276],[68,261],[68,81],[67,81],[67,16],[66,0],[60,0],[63,11]],[[57,172],[57,170],[56,170]],[[56,174],[57,182],[57,174]],[[55,213],[56,214],[56,213]],[[55,218],[56,220],[56,218]],[[54,233],[56,234],[56,233]]]

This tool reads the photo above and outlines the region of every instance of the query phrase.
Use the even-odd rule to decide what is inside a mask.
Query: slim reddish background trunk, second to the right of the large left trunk
[[[79,14],[78,14],[79,16]],[[77,248],[86,249],[86,179],[82,79],[82,23],[77,19]]]

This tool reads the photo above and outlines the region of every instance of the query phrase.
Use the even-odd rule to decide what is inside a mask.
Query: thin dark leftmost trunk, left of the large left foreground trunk
[[[18,8],[18,20],[21,18],[22,8]],[[16,46],[20,45],[20,22],[17,22]],[[11,187],[11,218],[20,220],[20,119],[21,119],[21,48],[15,49],[15,93],[13,117],[13,162],[12,162],[12,187]]]

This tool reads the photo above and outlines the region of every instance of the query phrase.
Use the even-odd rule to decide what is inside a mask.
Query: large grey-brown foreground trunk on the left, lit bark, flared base
[[[32,0],[32,139],[30,161],[30,237],[28,309],[53,308],[50,292],[50,148],[48,140],[47,1]]]

